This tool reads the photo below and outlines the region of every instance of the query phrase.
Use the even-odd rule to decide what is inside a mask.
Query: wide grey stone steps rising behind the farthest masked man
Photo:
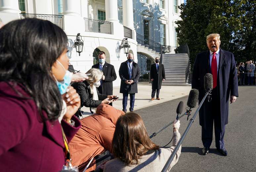
[[[165,70],[165,81],[162,85],[191,86],[186,83],[186,68],[189,62],[187,53],[163,54],[162,64]]]

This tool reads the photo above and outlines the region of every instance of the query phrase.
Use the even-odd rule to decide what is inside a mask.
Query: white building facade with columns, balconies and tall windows
[[[178,46],[175,21],[180,19],[181,3],[184,0],[0,0],[0,18],[4,24],[25,17],[50,20],[67,34],[68,56],[75,70],[88,71],[98,62],[100,50],[118,75],[120,63],[127,59],[123,49],[119,50],[125,37],[135,62],[145,55],[153,57],[137,55],[137,34],[144,41]],[[84,41],[80,56],[73,45],[77,33]],[[117,77],[113,86],[119,85]]]

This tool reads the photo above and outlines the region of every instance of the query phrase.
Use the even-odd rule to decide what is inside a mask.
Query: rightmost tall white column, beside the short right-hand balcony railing
[[[123,0],[123,24],[134,30],[132,0]]]

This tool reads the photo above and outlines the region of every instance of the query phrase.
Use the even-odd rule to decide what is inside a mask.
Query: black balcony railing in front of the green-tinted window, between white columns
[[[111,34],[111,22],[92,18],[84,18],[84,20],[86,32]]]

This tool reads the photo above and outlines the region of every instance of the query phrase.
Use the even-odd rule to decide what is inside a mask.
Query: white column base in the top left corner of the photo
[[[0,12],[21,13],[17,0],[0,0]]]

